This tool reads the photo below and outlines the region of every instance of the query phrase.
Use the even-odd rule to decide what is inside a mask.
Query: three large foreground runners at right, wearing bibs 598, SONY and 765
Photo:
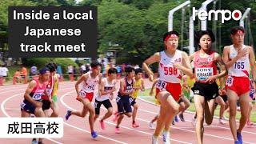
[[[204,119],[208,125],[213,122],[215,102],[219,92],[221,95],[227,95],[230,106],[230,130],[234,143],[242,143],[242,129],[249,117],[250,89],[255,90],[256,81],[254,50],[251,46],[243,45],[243,27],[234,26],[231,28],[230,37],[233,44],[224,47],[222,56],[212,48],[215,37],[211,30],[200,30],[195,34],[195,42],[199,50],[190,56],[177,50],[178,37],[176,31],[164,34],[165,50],[155,53],[143,62],[143,68],[150,75],[151,81],[154,80],[154,74],[149,66],[154,62],[159,63],[156,98],[160,103],[160,112],[152,120],[153,122],[157,119],[152,143],[158,143],[162,129],[163,142],[170,143],[170,122],[180,110],[178,102],[182,98],[180,95],[182,94],[183,74],[190,77],[194,75],[195,78],[192,90],[196,109],[195,131],[198,143],[203,142]],[[194,73],[190,66],[191,62],[194,64]],[[221,69],[219,73],[218,67]],[[250,70],[253,79],[251,84]],[[218,87],[216,80],[223,77],[226,77],[226,85]],[[237,129],[235,116],[238,99],[241,107],[241,118]],[[225,110],[225,107],[222,108],[222,111],[223,109]]]

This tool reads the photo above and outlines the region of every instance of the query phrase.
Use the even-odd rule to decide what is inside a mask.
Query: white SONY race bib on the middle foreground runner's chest
[[[196,68],[195,74],[199,81],[203,81],[214,75],[214,69],[212,67]]]

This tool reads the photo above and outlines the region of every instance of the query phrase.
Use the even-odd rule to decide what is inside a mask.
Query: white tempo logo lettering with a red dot
[[[192,14],[193,20],[195,20],[195,17],[198,14],[198,18],[202,21],[206,20],[207,17],[208,21],[210,21],[212,19],[212,14],[214,14],[214,19],[217,21],[218,14],[222,14],[222,23],[224,23],[225,21],[229,21],[231,18],[233,18],[235,21],[238,21],[240,20],[240,18],[242,18],[242,13],[240,10],[234,10],[232,12],[230,10],[210,10],[209,12],[207,12],[206,10],[196,10],[193,7]]]

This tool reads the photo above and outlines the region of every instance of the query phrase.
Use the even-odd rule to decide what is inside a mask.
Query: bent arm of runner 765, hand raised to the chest
[[[226,64],[226,68],[229,69],[231,66],[234,65],[235,62],[238,61],[239,58],[242,58],[248,54],[248,49],[242,49],[238,51],[237,56],[230,59],[230,46],[225,46],[223,50],[223,62]]]

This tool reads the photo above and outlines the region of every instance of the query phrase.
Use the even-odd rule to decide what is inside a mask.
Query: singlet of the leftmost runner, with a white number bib
[[[46,82],[43,82],[42,86],[39,86],[38,79],[34,79],[37,83],[34,89],[30,93],[30,97],[36,101],[40,101],[42,99],[42,94],[46,90]]]

